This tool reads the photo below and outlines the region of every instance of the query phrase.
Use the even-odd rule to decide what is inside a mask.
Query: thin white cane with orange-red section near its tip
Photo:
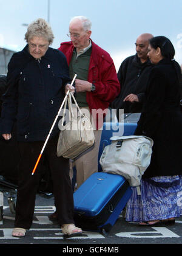
[[[70,86],[73,85],[76,76],[77,76],[77,75],[75,74],[75,76],[73,77],[73,80],[72,80],[72,83],[71,83]],[[70,91],[68,90],[67,93],[66,93],[66,96],[64,97],[64,100],[62,101],[62,104],[61,104],[61,106],[60,106],[60,108],[59,108],[58,114],[57,114],[57,116],[56,116],[56,118],[55,118],[55,120],[54,120],[54,122],[53,122],[52,127],[50,128],[50,131],[49,131],[49,134],[48,134],[48,136],[47,136],[47,139],[45,140],[44,146],[42,147],[41,153],[39,154],[39,157],[38,157],[38,159],[37,159],[37,161],[36,161],[35,167],[33,168],[32,175],[34,175],[34,173],[35,173],[36,167],[37,167],[37,165],[38,165],[38,163],[39,163],[39,160],[41,159],[42,153],[44,152],[44,148],[45,148],[45,146],[46,146],[46,144],[47,144],[47,141],[49,140],[50,134],[52,133],[53,127],[55,126],[55,123],[56,123],[56,121],[57,121],[57,119],[58,119],[58,117],[59,117],[59,114],[60,114],[60,112],[61,112],[62,106],[64,105],[64,102],[66,101],[67,95],[69,95],[69,92],[70,92]]]

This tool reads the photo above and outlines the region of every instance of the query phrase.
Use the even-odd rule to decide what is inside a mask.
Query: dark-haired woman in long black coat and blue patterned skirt
[[[174,55],[174,46],[165,36],[150,40],[148,56],[155,66],[135,134],[152,138],[153,152],[141,180],[141,195],[133,187],[126,210],[126,221],[141,225],[172,224],[181,213],[181,70]]]

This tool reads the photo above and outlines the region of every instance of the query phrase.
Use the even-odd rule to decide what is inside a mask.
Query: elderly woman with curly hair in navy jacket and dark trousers
[[[66,57],[49,47],[53,33],[44,19],[29,25],[25,34],[27,46],[13,55],[8,64],[8,90],[3,97],[0,131],[5,140],[11,138],[16,119],[21,162],[16,200],[13,237],[24,237],[33,221],[40,167],[47,158],[53,180],[53,194],[58,206],[59,224],[67,237],[78,236],[82,230],[73,221],[73,192],[69,177],[69,159],[56,156],[58,120],[52,126],[67,91],[75,91],[69,78]],[[71,83],[72,82],[72,83]],[[50,133],[50,128],[51,133]],[[32,175],[39,153],[36,172]]]

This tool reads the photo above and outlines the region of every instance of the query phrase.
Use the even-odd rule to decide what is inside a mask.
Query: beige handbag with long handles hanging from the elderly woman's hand
[[[73,115],[72,98],[78,109],[78,114],[75,116]],[[69,122],[64,125],[67,102],[69,106]],[[59,132],[57,156],[74,159],[92,147],[95,142],[92,123],[89,117],[81,112],[72,92],[69,92],[64,104],[64,112],[59,129],[61,131]]]

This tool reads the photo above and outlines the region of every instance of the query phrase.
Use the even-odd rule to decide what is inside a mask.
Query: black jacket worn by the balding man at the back
[[[118,109],[124,109],[124,113],[141,112],[144,91],[151,68],[152,64],[150,61],[147,60],[145,63],[141,63],[137,54],[126,58],[121,63],[118,71],[121,92],[112,103],[112,108],[117,109],[117,117]],[[129,94],[136,94],[140,102],[123,102],[124,98]]]

